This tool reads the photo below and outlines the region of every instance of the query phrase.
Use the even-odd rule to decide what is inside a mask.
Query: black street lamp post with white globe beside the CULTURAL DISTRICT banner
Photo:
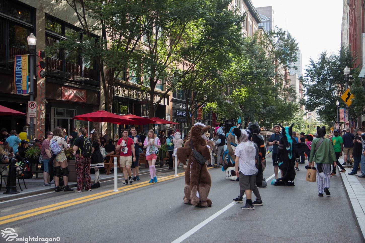
[[[34,55],[35,55],[35,45],[37,44],[37,38],[30,33],[27,38],[28,49],[29,49],[29,66],[30,66],[30,101],[34,101]],[[34,118],[30,117],[29,122],[29,141],[34,141]]]

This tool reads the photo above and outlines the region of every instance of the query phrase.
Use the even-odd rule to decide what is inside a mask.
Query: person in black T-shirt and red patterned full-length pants
[[[81,153],[84,149],[84,143],[87,138],[87,131],[85,128],[78,129],[78,138],[75,139],[72,150],[75,155],[75,167],[76,167],[76,180],[77,189],[76,192],[82,192],[82,188],[85,191],[91,191],[91,176],[90,176],[90,163],[91,157],[85,158]]]

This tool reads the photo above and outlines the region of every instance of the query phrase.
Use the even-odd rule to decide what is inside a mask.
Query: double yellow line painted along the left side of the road
[[[185,172],[181,172],[178,173],[177,176],[175,175],[171,175],[171,176],[165,176],[165,177],[161,177],[158,179],[159,182],[162,181],[166,181],[166,180],[170,180],[176,177],[180,177],[182,175],[184,175]],[[6,224],[6,223],[10,223],[10,222],[14,222],[16,220],[20,220],[20,219],[25,219],[27,217],[31,217],[31,216],[35,216],[35,215],[39,215],[42,213],[46,213],[46,212],[51,212],[60,208],[66,208],[72,205],[76,205],[76,204],[80,204],[80,203],[85,203],[87,201],[92,201],[95,199],[99,199],[102,197],[107,197],[107,196],[111,196],[111,195],[115,195],[116,193],[120,193],[120,192],[126,192],[135,188],[139,188],[139,187],[145,187],[147,185],[150,185],[148,183],[148,181],[142,182],[142,183],[138,183],[137,185],[128,185],[128,186],[124,186],[124,187],[119,187],[118,192],[113,192],[113,190],[108,190],[105,192],[99,192],[99,193],[95,193],[95,194],[91,194],[88,196],[84,196],[84,197],[79,197],[76,199],[72,199],[72,200],[68,200],[68,201],[63,201],[63,202],[59,202],[59,203],[54,203],[54,204],[50,204],[44,207],[39,207],[39,208],[34,208],[34,209],[30,209],[27,211],[23,211],[23,212],[19,212],[19,213],[13,213],[10,215],[6,215],[3,217],[0,217],[0,225],[1,224]]]

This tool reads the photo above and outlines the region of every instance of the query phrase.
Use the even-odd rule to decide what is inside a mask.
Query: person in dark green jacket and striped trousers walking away
[[[313,166],[314,163],[317,164],[318,196],[323,197],[323,192],[328,196],[331,195],[328,190],[330,188],[331,164],[333,162],[336,166],[336,155],[331,140],[324,138],[326,128],[317,126],[317,134],[318,137],[312,141],[311,155],[308,161],[310,166]],[[317,144],[319,145],[317,146]],[[324,175],[323,173],[321,176],[319,175],[319,166],[321,166]]]

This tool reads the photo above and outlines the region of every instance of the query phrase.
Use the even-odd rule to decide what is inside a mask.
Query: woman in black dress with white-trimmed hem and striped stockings
[[[90,132],[90,138],[92,143],[92,154],[91,154],[91,163],[90,168],[94,169],[95,171],[95,179],[94,183],[91,184],[91,188],[99,188],[100,182],[99,182],[99,176],[100,176],[100,167],[104,167],[104,158],[103,155],[100,152],[100,137],[99,134],[93,129]]]

